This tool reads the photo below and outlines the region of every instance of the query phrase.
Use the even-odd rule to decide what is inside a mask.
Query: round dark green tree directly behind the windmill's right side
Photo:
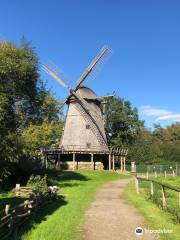
[[[143,126],[139,120],[138,111],[133,108],[130,101],[114,97],[107,101],[106,133],[110,145],[133,144]]]

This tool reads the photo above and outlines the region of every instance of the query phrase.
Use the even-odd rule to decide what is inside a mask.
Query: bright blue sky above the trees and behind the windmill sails
[[[112,55],[87,86],[130,100],[149,128],[180,122],[180,1],[1,0],[0,39],[18,44],[22,36],[72,87],[108,44]],[[58,99],[67,96],[46,73],[42,78]]]

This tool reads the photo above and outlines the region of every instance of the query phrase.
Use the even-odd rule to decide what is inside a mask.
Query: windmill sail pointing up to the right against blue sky
[[[92,60],[88,68],[85,70],[85,72],[81,75],[79,80],[77,81],[77,86],[75,88],[75,91],[81,86],[83,81],[92,74],[95,70],[98,70],[100,66],[105,62],[105,60],[108,58],[108,56],[111,53],[111,49],[108,46],[104,46],[98,55]]]

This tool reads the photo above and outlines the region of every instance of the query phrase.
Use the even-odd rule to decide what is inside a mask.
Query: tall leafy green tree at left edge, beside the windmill
[[[57,100],[40,79],[38,65],[34,49],[24,39],[19,47],[11,42],[0,43],[0,167],[5,172],[12,162],[33,159],[39,143],[46,146],[40,135],[39,143],[32,138],[28,145],[28,129],[37,128],[36,132],[51,142],[49,128],[60,124],[62,118]],[[45,122],[49,124],[47,133],[43,131]],[[54,133],[57,135],[58,131]],[[3,175],[1,171],[0,178]]]

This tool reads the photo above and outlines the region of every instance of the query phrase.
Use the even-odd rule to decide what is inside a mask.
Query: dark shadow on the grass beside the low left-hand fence
[[[40,224],[43,221],[47,220],[47,217],[57,209],[66,205],[67,201],[64,197],[60,197],[47,205],[43,206],[42,208],[35,211],[18,229],[18,237],[17,240],[21,240],[22,236],[26,234],[28,231],[35,229],[36,224]]]

